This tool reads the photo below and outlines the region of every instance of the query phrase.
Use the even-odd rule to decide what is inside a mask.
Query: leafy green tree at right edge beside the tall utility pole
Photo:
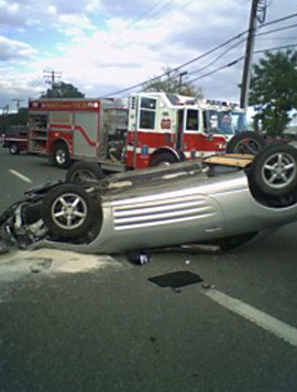
[[[297,52],[265,53],[253,67],[250,101],[254,106],[254,126],[271,137],[282,135],[290,112],[297,109]]]

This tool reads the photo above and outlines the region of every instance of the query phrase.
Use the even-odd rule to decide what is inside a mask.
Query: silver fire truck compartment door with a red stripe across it
[[[98,120],[98,113],[75,113],[74,157],[96,157],[96,148],[99,138]]]

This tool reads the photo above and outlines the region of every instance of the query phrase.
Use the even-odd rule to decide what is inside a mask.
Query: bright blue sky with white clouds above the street
[[[264,23],[297,12],[296,0],[267,4]],[[250,9],[251,0],[0,0],[0,113],[38,98],[52,70],[86,97],[128,97],[141,87],[117,92],[185,63],[183,79],[205,97],[239,101],[243,61],[227,65],[244,56]],[[257,33],[255,52],[296,45],[297,17]]]

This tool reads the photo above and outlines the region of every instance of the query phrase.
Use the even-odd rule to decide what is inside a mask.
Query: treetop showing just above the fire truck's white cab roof
[[[144,91],[165,91],[202,98],[202,90],[184,81],[183,75],[180,75],[178,70],[172,70],[169,67],[164,67],[163,70],[166,73],[165,78],[163,78],[163,80],[161,80],[161,78],[155,78],[152,81],[148,80],[147,83],[144,83]]]

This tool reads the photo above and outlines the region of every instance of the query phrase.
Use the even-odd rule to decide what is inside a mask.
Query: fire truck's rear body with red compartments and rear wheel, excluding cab
[[[74,160],[108,162],[108,144],[124,140],[127,119],[121,100],[31,99],[29,151],[58,167]]]

